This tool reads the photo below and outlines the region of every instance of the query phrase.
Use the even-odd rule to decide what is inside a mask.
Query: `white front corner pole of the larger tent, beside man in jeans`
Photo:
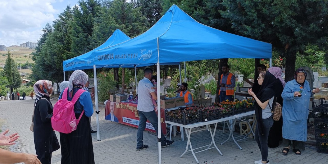
[[[160,72],[159,72],[159,62],[157,62],[157,81],[160,79]],[[160,87],[157,87],[157,122],[158,122],[158,164],[161,164],[161,101],[159,100],[160,98]]]

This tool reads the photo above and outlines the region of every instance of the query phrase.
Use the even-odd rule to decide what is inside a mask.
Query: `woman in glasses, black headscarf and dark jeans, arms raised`
[[[255,94],[252,89],[248,93],[255,99],[255,115],[257,120],[255,140],[261,151],[262,158],[255,161],[255,164],[266,164],[268,161],[268,136],[273,125],[273,118],[270,107],[272,107],[275,96],[274,84],[276,77],[267,71],[260,72],[258,84],[261,86]]]

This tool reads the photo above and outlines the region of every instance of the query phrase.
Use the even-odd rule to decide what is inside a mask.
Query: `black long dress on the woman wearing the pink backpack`
[[[78,89],[73,87],[72,97]],[[71,101],[72,97],[68,94],[69,92],[67,99]],[[82,111],[83,106],[79,101],[76,101],[74,104],[76,119],[80,117]],[[83,114],[75,131],[68,134],[59,133],[59,136],[62,154],[61,164],[94,164],[89,117]]]

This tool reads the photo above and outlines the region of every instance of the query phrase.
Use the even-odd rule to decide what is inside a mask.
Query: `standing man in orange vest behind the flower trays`
[[[229,72],[229,66],[222,66],[222,74],[220,81],[220,102],[229,100],[232,101],[232,95],[234,95],[234,89],[236,86],[236,78],[235,75]]]

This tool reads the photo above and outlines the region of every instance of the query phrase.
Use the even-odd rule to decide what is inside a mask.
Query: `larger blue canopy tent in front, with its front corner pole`
[[[195,21],[173,5],[148,31],[115,46],[92,52],[97,67],[157,66],[162,63],[218,59],[271,58],[272,45],[220,31]],[[157,81],[159,81],[157,76]],[[157,87],[157,97],[159,95]],[[160,102],[158,101],[158,106]],[[160,112],[158,112],[160,131]],[[158,138],[161,138],[160,133]],[[160,142],[158,142],[161,163]]]

